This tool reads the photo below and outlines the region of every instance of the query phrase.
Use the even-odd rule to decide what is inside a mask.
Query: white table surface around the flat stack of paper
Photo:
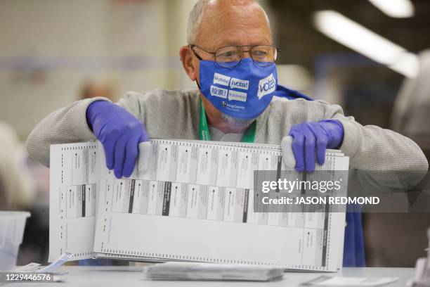
[[[311,280],[322,274],[328,276],[351,277],[400,277],[398,281],[387,286],[405,286],[412,278],[413,268],[344,268],[337,273],[309,273],[309,272],[285,272],[284,279],[273,282],[235,282],[235,281],[148,281],[144,279],[143,267],[61,267],[58,271],[68,272],[59,276],[62,282],[54,283],[10,283],[8,286],[36,287],[36,286],[299,286],[304,281]],[[30,285],[29,285],[30,284]]]

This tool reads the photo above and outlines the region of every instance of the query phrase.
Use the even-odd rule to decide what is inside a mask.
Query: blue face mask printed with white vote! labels
[[[259,66],[252,58],[242,58],[233,68],[224,68],[213,60],[200,60],[200,91],[230,117],[258,117],[271,103],[277,82],[275,63]]]

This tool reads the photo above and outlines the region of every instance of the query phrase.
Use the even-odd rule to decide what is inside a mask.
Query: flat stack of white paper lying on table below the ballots
[[[226,281],[273,281],[281,279],[284,269],[196,262],[168,262],[145,267],[150,280],[226,280]]]

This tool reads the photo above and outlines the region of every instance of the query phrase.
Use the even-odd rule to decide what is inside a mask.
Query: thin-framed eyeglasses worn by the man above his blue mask
[[[245,47],[251,47],[249,50],[245,50]],[[269,66],[275,63],[278,57],[278,52],[280,49],[276,49],[271,45],[257,45],[257,46],[223,46],[216,49],[214,52],[207,51],[200,46],[190,44],[190,49],[193,51],[195,56],[199,60],[203,60],[202,57],[197,54],[194,49],[198,48],[206,53],[210,53],[215,57],[215,62],[224,68],[233,68],[235,65],[240,63],[243,58],[244,53],[249,53],[252,60],[256,65],[259,66]]]

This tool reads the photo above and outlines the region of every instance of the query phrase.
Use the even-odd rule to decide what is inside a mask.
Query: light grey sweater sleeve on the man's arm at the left
[[[86,108],[93,101],[107,98],[89,98],[71,103],[44,117],[27,138],[30,157],[49,167],[49,146],[96,139],[86,123]]]

